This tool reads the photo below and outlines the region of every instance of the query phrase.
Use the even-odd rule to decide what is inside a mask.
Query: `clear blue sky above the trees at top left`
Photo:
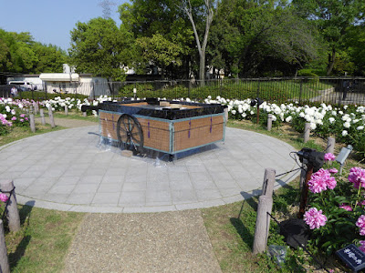
[[[118,6],[129,0],[110,0],[111,18],[120,25]],[[70,31],[76,23],[87,23],[103,15],[101,0],[0,0],[0,28],[7,32],[29,32],[36,42],[68,50]]]

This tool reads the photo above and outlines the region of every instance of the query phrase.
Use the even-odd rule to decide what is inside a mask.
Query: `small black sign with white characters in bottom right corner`
[[[365,268],[365,254],[354,244],[340,249],[336,254],[355,272]]]

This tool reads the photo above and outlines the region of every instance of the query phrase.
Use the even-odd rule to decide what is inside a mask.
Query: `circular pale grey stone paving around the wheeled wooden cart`
[[[214,207],[259,195],[265,168],[297,168],[276,138],[226,128],[224,143],[172,162],[123,157],[99,143],[99,126],[32,136],[0,147],[0,182],[21,204],[82,212],[158,212]],[[280,177],[276,187],[297,177]]]

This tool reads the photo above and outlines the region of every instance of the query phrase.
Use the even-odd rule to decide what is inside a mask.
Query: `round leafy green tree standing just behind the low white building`
[[[125,79],[123,66],[131,56],[131,37],[120,30],[112,19],[94,18],[78,22],[71,31],[69,55],[77,71],[113,80]],[[112,92],[110,84],[110,92]]]

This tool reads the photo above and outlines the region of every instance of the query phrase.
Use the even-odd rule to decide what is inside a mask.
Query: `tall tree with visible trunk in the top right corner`
[[[327,75],[332,73],[336,54],[344,48],[344,37],[351,25],[363,19],[363,0],[293,0],[297,12],[314,22],[328,43]]]

